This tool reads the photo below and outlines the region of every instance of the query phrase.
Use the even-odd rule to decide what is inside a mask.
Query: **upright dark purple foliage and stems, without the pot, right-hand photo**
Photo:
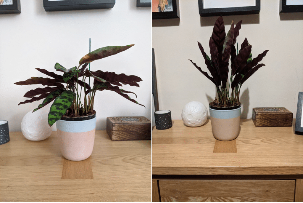
[[[265,66],[263,63],[258,63],[263,59],[268,50],[252,59],[251,45],[246,38],[241,44],[241,49],[236,53],[235,43],[241,29],[241,23],[242,21],[234,26],[234,22],[232,21],[226,35],[222,16],[217,19],[211,38],[209,39],[211,57],[204,52],[201,43],[198,42],[199,49],[205,59],[206,67],[212,77],[189,59],[203,75],[216,85],[218,100],[215,98],[215,101],[210,103],[211,106],[232,107],[240,105],[239,96],[242,84],[261,66]],[[229,57],[231,59],[231,76],[228,84]]]

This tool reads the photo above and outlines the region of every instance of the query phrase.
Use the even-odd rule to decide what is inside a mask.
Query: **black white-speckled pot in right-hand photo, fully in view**
[[[165,130],[172,127],[170,110],[160,110],[156,111],[154,114],[156,129]]]

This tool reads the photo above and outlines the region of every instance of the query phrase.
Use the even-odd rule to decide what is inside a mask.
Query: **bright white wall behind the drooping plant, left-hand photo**
[[[141,77],[140,88],[128,85],[122,88],[135,92],[136,100],[146,107],[112,91],[97,92],[97,130],[106,129],[106,117],[151,119],[150,7],[137,8],[135,0],[125,0],[116,1],[112,9],[45,12],[42,0],[22,1],[21,14],[1,15],[1,120],[8,120],[10,131],[20,131],[24,115],[43,101],[18,106],[26,100],[23,95],[28,90],[41,86],[13,83],[31,76],[47,77],[35,68],[55,71],[56,62],[66,68],[77,66],[89,52],[89,38],[91,51],[135,44],[124,52],[91,63],[91,70]],[[50,104],[43,108],[48,111],[49,107]]]

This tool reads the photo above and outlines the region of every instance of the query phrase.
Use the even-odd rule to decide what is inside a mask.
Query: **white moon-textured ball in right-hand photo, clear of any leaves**
[[[207,115],[208,111],[203,103],[191,101],[183,108],[181,117],[185,125],[197,127],[206,122]]]

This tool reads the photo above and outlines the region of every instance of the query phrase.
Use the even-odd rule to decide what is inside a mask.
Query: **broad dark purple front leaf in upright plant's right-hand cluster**
[[[231,61],[231,74],[235,75],[237,73],[241,73],[240,71],[246,66],[247,59],[251,53],[251,45],[245,47],[239,54],[235,57],[233,61]],[[244,75],[244,74],[243,74]]]

